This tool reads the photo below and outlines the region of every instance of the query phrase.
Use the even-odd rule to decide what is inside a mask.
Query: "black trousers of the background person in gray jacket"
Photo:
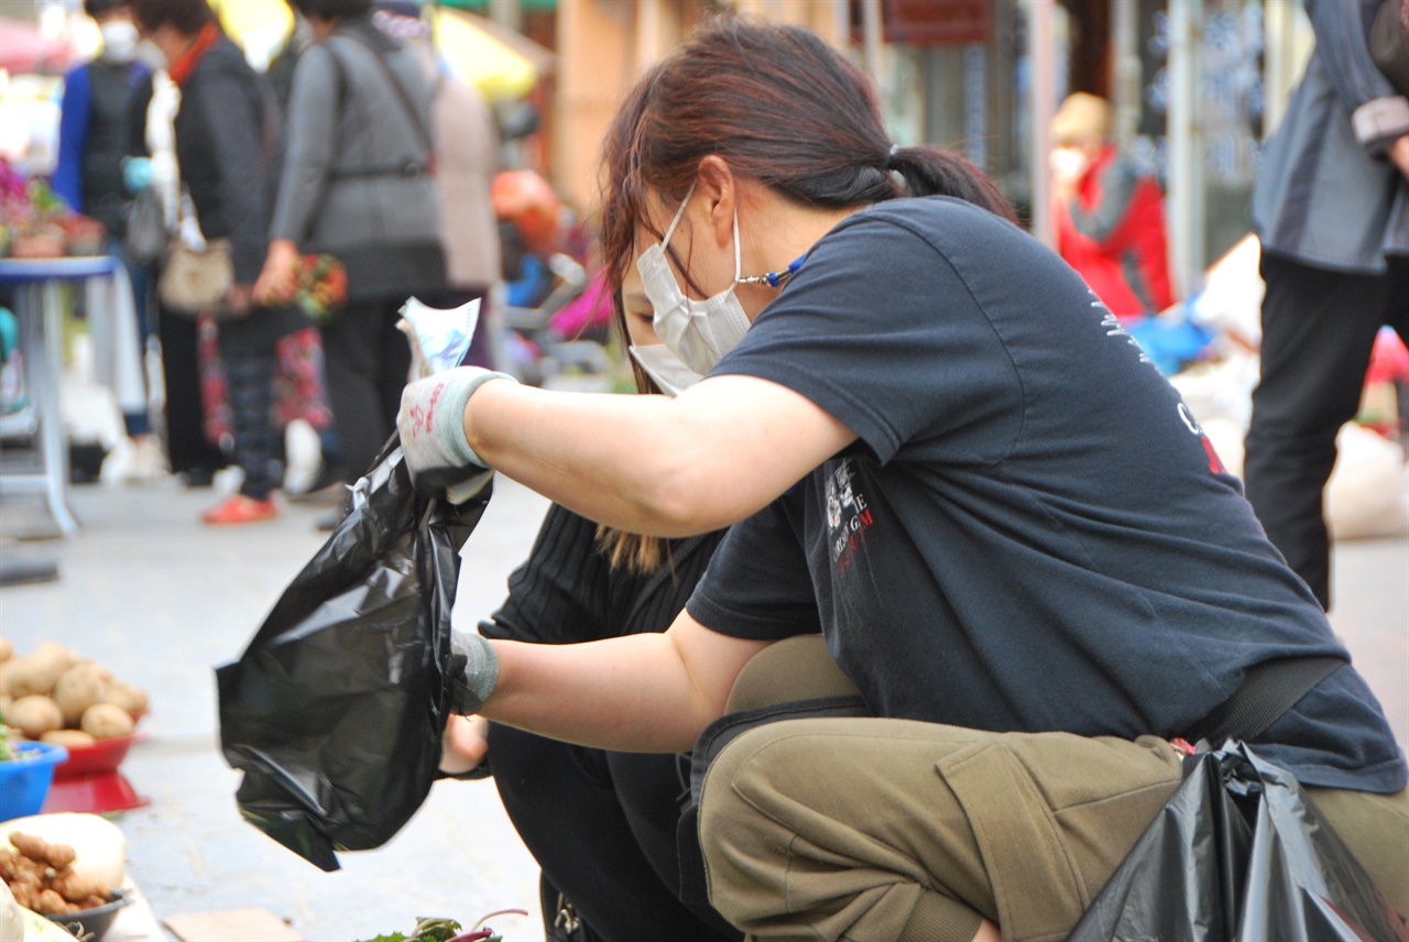
[[[340,463],[361,477],[396,428],[411,348],[396,329],[406,299],[348,301],[323,327],[323,369],[338,431]]]

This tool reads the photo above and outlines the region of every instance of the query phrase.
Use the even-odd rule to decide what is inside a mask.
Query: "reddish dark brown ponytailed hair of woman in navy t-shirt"
[[[650,69],[607,128],[602,248],[613,289],[635,258],[647,189],[683,199],[712,153],[800,206],[954,196],[1016,221],[964,158],[892,148],[869,79],[817,35],[721,15]]]

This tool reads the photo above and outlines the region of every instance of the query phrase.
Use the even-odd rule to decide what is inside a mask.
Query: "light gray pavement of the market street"
[[[120,825],[128,867],[158,918],[263,907],[307,939],[366,939],[406,932],[421,915],[469,925],[516,907],[528,917],[492,925],[516,942],[541,939],[537,867],[489,781],[442,781],[385,848],[341,855],[321,873],[244,824],[238,776],[217,746],[213,667],[237,658],[285,584],[323,541],[317,510],[287,507],[268,524],[197,522],[210,490],[172,480],[73,490],[82,531],[25,544],[51,555],[61,579],[0,589],[0,629],[20,651],[59,641],[147,687],[152,712],[123,770],[151,797]],[[509,480],[465,549],[457,620],[469,622],[503,598],[547,504]],[[24,507],[7,503],[0,520]],[[3,527],[0,527],[3,529]],[[1336,631],[1409,743],[1409,538],[1336,548]]]

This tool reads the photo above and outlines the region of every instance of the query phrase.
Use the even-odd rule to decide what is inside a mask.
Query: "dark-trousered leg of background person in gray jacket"
[[[351,301],[323,327],[323,366],[328,406],[348,475],[366,473],[393,424],[385,415],[379,390],[383,342],[379,329],[385,306]],[[402,345],[406,345],[402,338]],[[393,415],[395,421],[395,415]]]

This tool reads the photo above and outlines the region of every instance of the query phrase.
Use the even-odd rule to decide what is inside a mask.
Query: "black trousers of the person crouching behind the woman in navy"
[[[603,752],[490,724],[489,756],[509,818],[542,867],[544,924],[557,891],[600,942],[737,942],[709,908],[679,901],[675,827],[689,762]]]

